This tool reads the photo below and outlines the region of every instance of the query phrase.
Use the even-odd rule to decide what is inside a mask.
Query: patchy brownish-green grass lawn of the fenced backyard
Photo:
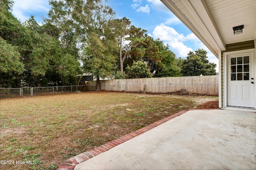
[[[84,92],[1,99],[0,160],[14,164],[0,164],[0,169],[56,169],[70,157],[192,109],[197,98]]]

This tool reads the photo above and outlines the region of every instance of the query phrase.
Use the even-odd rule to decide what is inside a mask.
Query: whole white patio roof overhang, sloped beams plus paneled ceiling
[[[161,0],[216,56],[226,44],[256,39],[255,0]],[[242,34],[233,27],[244,25]]]

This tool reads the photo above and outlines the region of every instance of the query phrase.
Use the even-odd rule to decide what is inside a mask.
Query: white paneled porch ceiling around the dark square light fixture
[[[256,0],[205,0],[225,44],[256,38]],[[244,25],[243,33],[234,35],[233,27]]]

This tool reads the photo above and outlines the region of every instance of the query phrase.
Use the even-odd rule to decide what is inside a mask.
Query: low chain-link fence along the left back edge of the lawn
[[[86,91],[86,85],[54,87],[0,88],[0,98],[54,95],[60,93],[79,93]]]

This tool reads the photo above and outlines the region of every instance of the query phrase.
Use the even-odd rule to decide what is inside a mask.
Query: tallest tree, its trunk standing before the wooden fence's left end
[[[115,12],[108,0],[50,0],[48,16],[62,32],[73,32],[80,45],[84,71],[97,77],[96,91],[100,91],[100,77],[111,75],[116,39],[111,24]]]

